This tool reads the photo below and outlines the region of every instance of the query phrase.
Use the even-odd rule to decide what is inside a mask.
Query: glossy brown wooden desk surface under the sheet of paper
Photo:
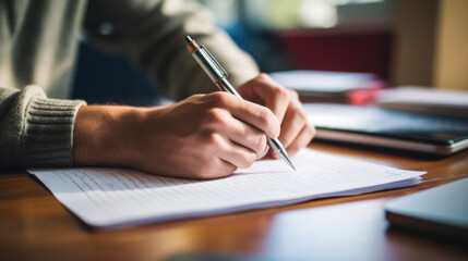
[[[388,199],[468,176],[468,151],[424,159],[324,144],[312,148],[428,174],[409,188],[93,232],[26,172],[3,172],[0,260],[187,260],[195,253],[255,260],[468,260],[466,245],[391,228],[383,211]]]

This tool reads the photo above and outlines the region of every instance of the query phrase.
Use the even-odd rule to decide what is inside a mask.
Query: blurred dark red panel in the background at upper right
[[[393,34],[388,30],[283,30],[278,37],[296,69],[365,72],[388,80]]]

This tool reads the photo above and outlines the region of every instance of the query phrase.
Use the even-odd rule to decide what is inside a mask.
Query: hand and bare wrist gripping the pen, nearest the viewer
[[[268,151],[266,136],[279,135],[271,110],[227,92],[151,109],[82,107],[74,126],[77,165],[129,166],[190,178],[248,167]]]

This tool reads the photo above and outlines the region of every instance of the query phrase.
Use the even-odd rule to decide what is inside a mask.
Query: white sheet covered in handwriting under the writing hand
[[[415,185],[424,172],[410,172],[304,149],[279,160],[212,181],[145,174],[128,169],[36,169],[53,196],[85,223],[129,226],[277,207],[321,197],[345,196]]]

